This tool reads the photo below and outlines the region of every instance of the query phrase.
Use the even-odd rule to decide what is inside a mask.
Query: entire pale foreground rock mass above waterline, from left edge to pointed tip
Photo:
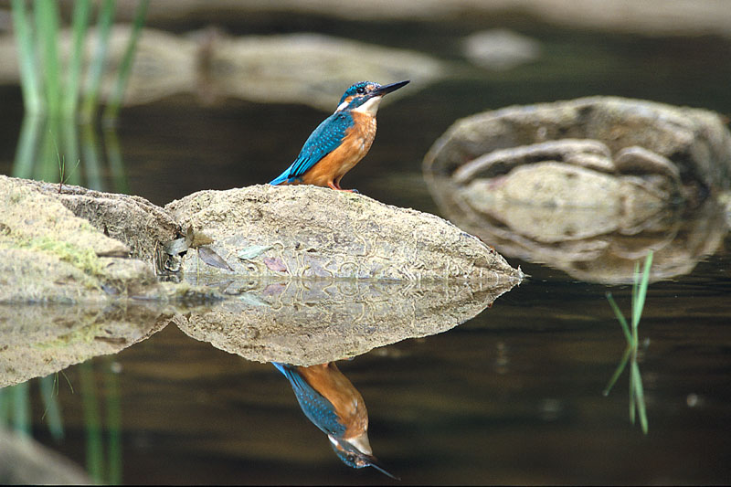
[[[0,189],[0,302],[178,299],[158,285],[152,259],[173,240],[183,242],[175,253],[187,249],[183,270],[196,274],[203,266],[205,273],[281,279],[495,285],[523,275],[439,217],[328,188],[203,191],[165,209],[74,186],[59,194],[57,185],[5,176]]]

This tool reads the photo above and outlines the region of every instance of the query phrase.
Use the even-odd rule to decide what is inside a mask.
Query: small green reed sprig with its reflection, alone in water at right
[[[640,375],[640,367],[637,365],[637,350],[640,344],[638,338],[637,329],[640,326],[640,319],[642,316],[642,309],[645,305],[645,298],[647,297],[647,287],[650,283],[650,269],[652,268],[652,250],[645,258],[644,268],[640,273],[640,263],[635,263],[634,266],[634,282],[632,284],[632,308],[631,308],[631,319],[630,324],[625,320],[624,315],[620,311],[620,307],[612,298],[611,293],[607,293],[607,301],[609,306],[617,316],[624,338],[627,341],[627,347],[624,350],[624,355],[620,361],[620,365],[614,371],[614,374],[609,379],[609,384],[604,389],[604,396],[609,395],[609,391],[612,386],[617,382],[621,373],[624,371],[625,366],[630,362],[630,421],[632,424],[635,423],[636,416],[640,417],[640,425],[642,432],[647,434],[647,410],[645,408],[645,397],[644,389],[642,387],[642,378]]]

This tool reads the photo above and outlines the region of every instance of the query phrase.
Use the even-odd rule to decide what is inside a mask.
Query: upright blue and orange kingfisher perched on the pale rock
[[[376,112],[383,97],[409,80],[388,85],[361,81],[345,90],[335,112],[323,120],[302,146],[297,159],[270,185],[328,186],[340,180],[368,154],[376,137]]]

